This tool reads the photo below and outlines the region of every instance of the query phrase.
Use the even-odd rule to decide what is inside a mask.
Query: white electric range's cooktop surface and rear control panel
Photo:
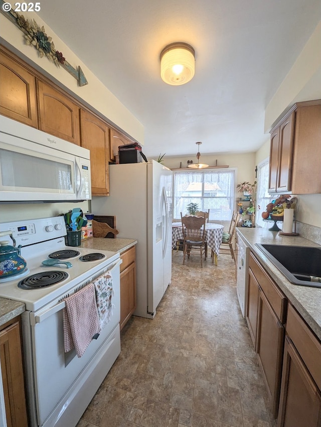
[[[24,277],[13,277],[8,282],[2,282],[0,279],[0,297],[24,302],[26,310],[37,311],[69,292],[73,287],[88,282],[99,271],[119,259],[118,253],[102,250],[99,259],[94,260],[91,255],[93,250],[66,246],[65,235],[67,232],[64,217],[1,223],[0,231],[6,230],[12,230],[17,247],[22,245],[21,255],[27,261],[29,273]],[[57,264],[54,267],[42,264],[46,258],[53,259],[50,257],[51,254],[65,253],[65,251],[68,251],[69,254],[70,251],[78,252],[77,255],[70,258],[72,267],[68,268],[68,273],[64,264]],[[80,257],[87,255],[89,255],[91,262],[82,262]],[[61,261],[64,260],[66,258],[61,259]],[[38,273],[48,275],[52,271],[66,273],[67,277],[50,286],[29,287],[27,289],[18,286],[22,278],[27,279],[33,275],[38,275]]]

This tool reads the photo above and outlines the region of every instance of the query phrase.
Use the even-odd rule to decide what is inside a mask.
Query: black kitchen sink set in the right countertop
[[[256,246],[294,285],[321,288],[321,247],[258,243]]]

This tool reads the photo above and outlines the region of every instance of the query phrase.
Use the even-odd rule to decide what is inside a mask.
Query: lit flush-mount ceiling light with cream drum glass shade
[[[195,50],[187,43],[172,43],[161,53],[161,77],[165,83],[178,86],[192,80],[195,74]]]

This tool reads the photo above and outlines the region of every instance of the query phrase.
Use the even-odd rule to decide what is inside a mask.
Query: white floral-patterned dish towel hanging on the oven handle
[[[102,274],[98,279],[93,281],[96,290],[96,302],[100,328],[103,329],[110,321],[112,315],[111,297],[114,294],[112,288],[112,276],[109,271]]]

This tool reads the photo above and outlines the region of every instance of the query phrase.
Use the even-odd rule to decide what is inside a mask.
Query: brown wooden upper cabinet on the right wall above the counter
[[[321,99],[298,102],[272,129],[270,193],[321,193]]]

